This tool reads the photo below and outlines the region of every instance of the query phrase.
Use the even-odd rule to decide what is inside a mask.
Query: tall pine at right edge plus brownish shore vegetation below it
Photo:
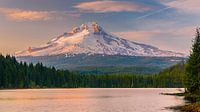
[[[200,29],[196,31],[192,51],[186,65],[185,99],[192,102],[183,106],[186,112],[200,112]]]

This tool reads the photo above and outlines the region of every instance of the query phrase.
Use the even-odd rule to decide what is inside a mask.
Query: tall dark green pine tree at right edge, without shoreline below
[[[186,66],[186,89],[190,93],[200,93],[200,29],[197,28],[192,51]]]

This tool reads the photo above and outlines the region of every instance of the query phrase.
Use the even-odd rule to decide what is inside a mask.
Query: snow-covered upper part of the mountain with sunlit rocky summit
[[[133,35],[134,36],[134,35]],[[51,56],[65,54],[102,54],[151,57],[184,57],[184,54],[160,50],[159,48],[118,38],[104,31],[97,23],[75,27],[70,33],[52,39],[39,47],[16,53],[16,56]]]

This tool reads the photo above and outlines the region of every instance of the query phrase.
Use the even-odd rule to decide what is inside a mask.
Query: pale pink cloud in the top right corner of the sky
[[[181,12],[187,13],[199,13],[200,12],[200,0],[175,0],[175,1],[161,1],[164,5],[177,9]]]

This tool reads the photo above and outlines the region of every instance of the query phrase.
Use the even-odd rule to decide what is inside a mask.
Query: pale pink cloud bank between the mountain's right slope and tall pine
[[[159,48],[164,50],[189,54],[192,44],[191,40],[195,37],[195,27],[185,26],[171,29],[124,31],[113,32],[113,34],[131,41],[159,46]]]

